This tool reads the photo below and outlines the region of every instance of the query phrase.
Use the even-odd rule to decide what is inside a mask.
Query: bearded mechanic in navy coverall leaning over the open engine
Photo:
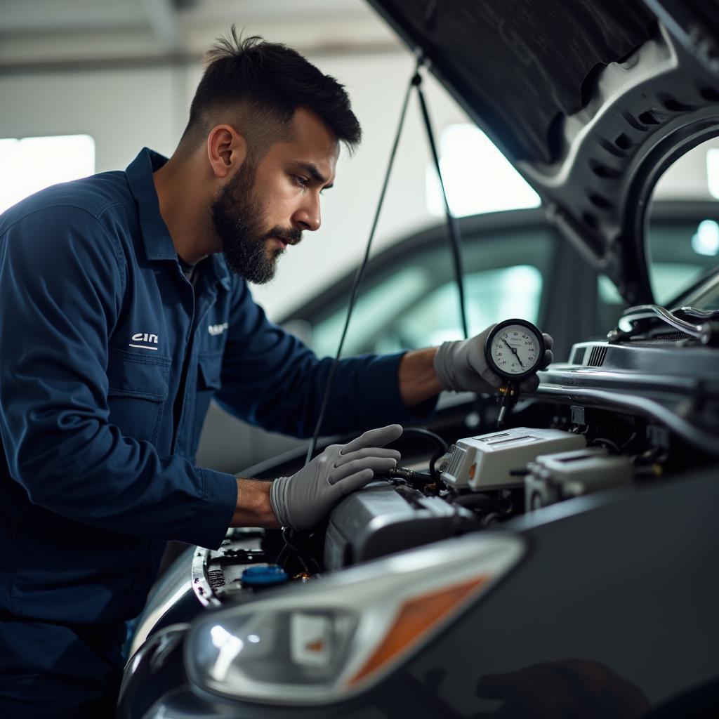
[[[216,548],[229,527],[311,527],[395,466],[385,445],[443,388],[499,385],[486,331],[343,359],[324,430],[396,424],[274,482],[195,465],[213,396],[266,429],[313,431],[331,359],[267,321],[247,283],[270,280],[285,248],[319,228],[339,143],[351,150],[360,134],[334,78],[233,29],[209,53],[169,160],[145,149],[125,172],[0,216],[4,715],[111,716],[126,621],[166,541]]]

